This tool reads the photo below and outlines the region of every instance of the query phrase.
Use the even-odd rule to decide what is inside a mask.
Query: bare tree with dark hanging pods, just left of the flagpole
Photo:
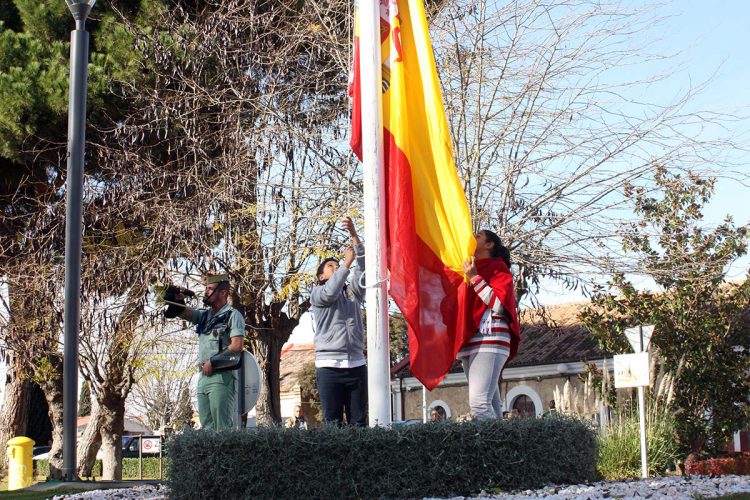
[[[153,187],[133,191],[131,206],[143,206],[146,225],[174,242],[161,248],[162,272],[231,273],[233,305],[270,384],[259,422],[270,423],[280,420],[279,354],[300,314],[306,271],[349,212],[347,193],[359,189],[343,141],[348,59],[340,50],[350,7],[231,1],[200,9],[176,6],[158,32],[131,26],[155,83],[128,95],[139,112],[113,130],[117,163]],[[158,210],[144,203],[155,193]]]

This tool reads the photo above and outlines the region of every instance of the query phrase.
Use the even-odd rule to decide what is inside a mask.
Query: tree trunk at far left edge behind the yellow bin
[[[21,370],[14,360],[14,355],[8,351],[6,356],[5,395],[3,407],[0,410],[0,452],[3,454],[0,472],[4,475],[6,469],[5,449],[8,440],[26,434],[29,420],[29,401],[31,397],[31,383],[24,380]]]

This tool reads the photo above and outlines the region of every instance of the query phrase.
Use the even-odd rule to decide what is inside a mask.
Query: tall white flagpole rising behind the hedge
[[[391,424],[380,0],[360,0],[360,82],[367,266],[367,392],[370,426]]]

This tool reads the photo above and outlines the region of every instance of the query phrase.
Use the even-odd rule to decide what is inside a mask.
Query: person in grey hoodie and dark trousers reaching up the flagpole
[[[364,245],[351,218],[342,226],[352,238],[344,260],[325,259],[318,266],[318,284],[310,294],[315,325],[315,373],[323,420],[341,424],[344,414],[351,425],[367,425],[367,366],[362,327],[365,299]],[[352,269],[354,261],[357,265]],[[348,281],[348,284],[347,284]]]

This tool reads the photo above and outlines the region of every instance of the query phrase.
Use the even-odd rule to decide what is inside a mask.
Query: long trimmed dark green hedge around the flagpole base
[[[189,431],[166,447],[171,496],[190,499],[472,495],[592,481],[597,456],[570,418]]]

